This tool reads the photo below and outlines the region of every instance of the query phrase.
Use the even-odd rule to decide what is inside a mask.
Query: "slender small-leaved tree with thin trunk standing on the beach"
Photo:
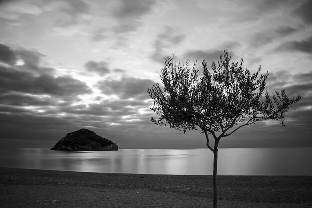
[[[222,137],[228,137],[241,127],[258,121],[279,120],[284,125],[284,115],[301,96],[288,98],[285,90],[270,96],[266,91],[268,72],[260,74],[261,66],[252,73],[243,69],[240,62],[231,61],[228,52],[220,53],[218,66],[212,62],[212,74],[207,62],[202,62],[200,75],[197,61],[191,66],[175,62],[167,57],[161,69],[159,83],[147,89],[154,101],[151,108],[158,119],[151,118],[156,125],[167,125],[185,133],[199,128],[205,134],[206,145],[213,152],[213,207],[217,208],[217,162],[218,145]],[[265,92],[266,91],[266,92]],[[264,95],[264,97],[263,97]],[[210,145],[209,136],[214,145]]]

